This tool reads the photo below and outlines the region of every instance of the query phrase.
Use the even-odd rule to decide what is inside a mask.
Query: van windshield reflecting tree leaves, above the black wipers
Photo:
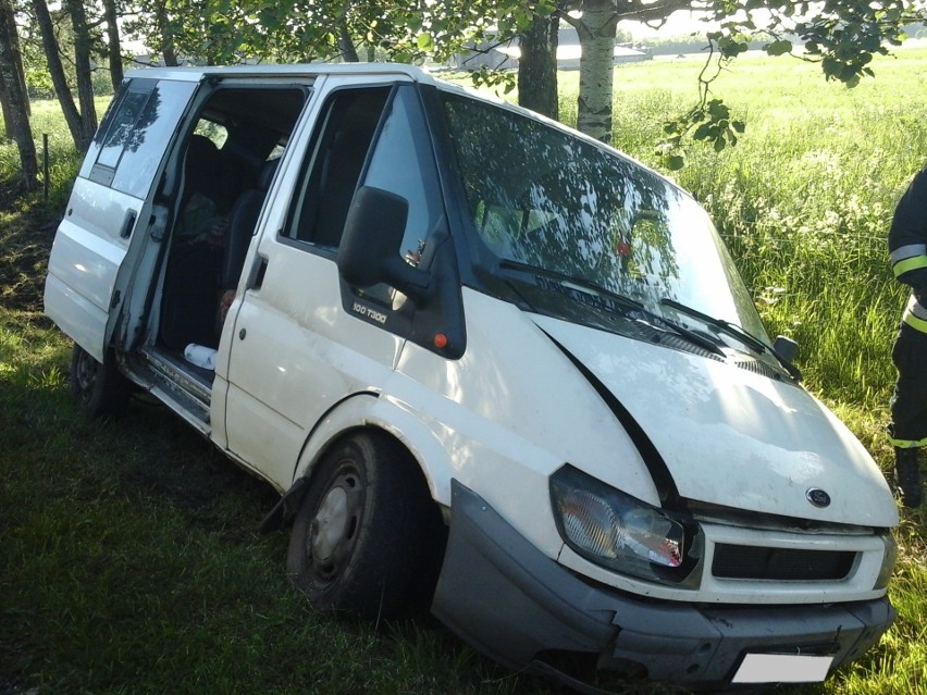
[[[601,288],[668,319],[682,305],[768,343],[691,196],[611,149],[512,110],[452,94],[444,104],[484,271],[537,269],[540,286],[560,278]]]

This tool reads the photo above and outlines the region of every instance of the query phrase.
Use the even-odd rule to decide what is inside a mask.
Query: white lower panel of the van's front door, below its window
[[[284,486],[310,429],[342,398],[378,392],[401,339],[344,311],[334,261],[272,238],[260,255],[272,270],[235,318],[226,442]]]

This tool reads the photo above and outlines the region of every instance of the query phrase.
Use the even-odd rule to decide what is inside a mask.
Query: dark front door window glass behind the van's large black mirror
[[[338,247],[390,90],[343,89],[330,97],[300,174],[284,236],[329,249]]]

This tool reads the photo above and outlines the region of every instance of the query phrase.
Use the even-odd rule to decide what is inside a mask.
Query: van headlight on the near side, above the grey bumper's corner
[[[551,477],[551,498],[560,535],[586,559],[660,583],[697,580],[697,526],[687,534],[685,525],[664,511],[571,466]]]

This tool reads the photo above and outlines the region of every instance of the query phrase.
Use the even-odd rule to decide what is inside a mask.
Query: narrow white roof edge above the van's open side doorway
[[[126,77],[199,82],[205,77],[287,77],[312,75],[404,75],[415,82],[433,84],[435,78],[415,65],[403,63],[293,63],[260,65],[136,67]]]

